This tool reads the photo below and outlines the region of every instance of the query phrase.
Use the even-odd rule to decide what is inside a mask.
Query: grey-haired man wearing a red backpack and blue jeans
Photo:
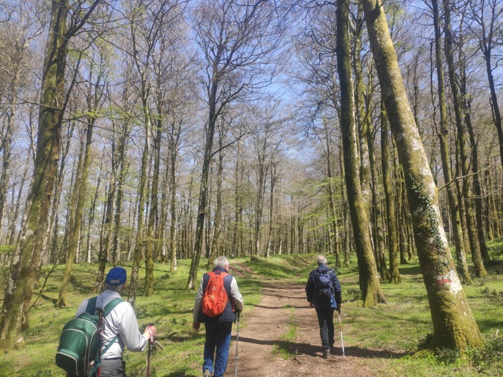
[[[213,271],[203,275],[194,304],[192,327],[199,331],[204,323],[206,329],[203,377],[223,376],[229,357],[232,322],[243,309],[237,281],[228,270],[229,261],[225,256],[219,256]]]

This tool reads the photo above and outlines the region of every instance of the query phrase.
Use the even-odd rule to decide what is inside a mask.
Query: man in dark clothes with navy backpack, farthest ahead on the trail
[[[334,353],[333,311],[341,313],[341,284],[336,271],[326,265],[324,255],[317,259],[318,267],[309,274],[306,284],[306,294],[309,306],[316,310],[319,324],[319,335],[323,346],[323,357]]]

